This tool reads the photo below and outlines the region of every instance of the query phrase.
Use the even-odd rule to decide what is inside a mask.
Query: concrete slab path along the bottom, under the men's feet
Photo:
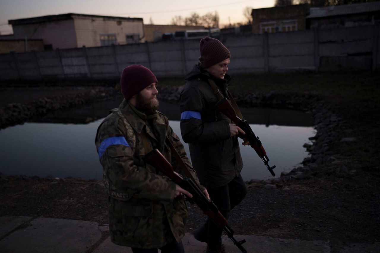
[[[128,247],[111,243],[108,226],[97,222],[54,218],[0,217],[0,252],[2,253],[131,253]],[[234,236],[245,239],[249,253],[330,253],[328,241],[280,239],[264,236]],[[187,233],[182,240],[185,252],[203,253],[205,243]],[[227,253],[241,252],[223,236]],[[339,253],[380,252],[380,243],[352,244]]]

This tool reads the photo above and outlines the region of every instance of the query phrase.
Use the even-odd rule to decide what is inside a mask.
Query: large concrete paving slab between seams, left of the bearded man
[[[85,253],[101,238],[97,222],[36,218],[0,240],[3,253]]]

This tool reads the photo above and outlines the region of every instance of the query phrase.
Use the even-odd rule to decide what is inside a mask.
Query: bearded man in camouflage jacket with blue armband
[[[169,148],[173,145],[199,181],[168,118],[157,111],[157,83],[144,66],[125,68],[120,79],[124,100],[100,124],[95,143],[109,196],[111,241],[131,247],[134,253],[157,253],[158,248],[162,253],[183,253],[181,239],[188,215],[183,194],[192,195],[142,157],[157,148],[184,175]]]

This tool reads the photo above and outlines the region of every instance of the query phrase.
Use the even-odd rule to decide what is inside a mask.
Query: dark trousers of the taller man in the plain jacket
[[[241,175],[235,177],[227,185],[220,187],[207,188],[211,200],[218,207],[223,216],[228,219],[230,217],[231,209],[237,206],[247,195],[247,188]],[[221,244],[221,236],[223,229],[215,225],[215,223],[207,218],[204,224],[204,229],[207,229],[207,244],[209,247],[219,247]]]

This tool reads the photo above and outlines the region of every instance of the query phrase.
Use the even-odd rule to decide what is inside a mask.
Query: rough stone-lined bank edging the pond
[[[171,103],[177,103],[183,86],[159,87],[158,99]],[[63,108],[76,107],[90,102],[106,100],[119,95],[120,92],[113,87],[93,87],[84,93],[62,95],[57,97],[43,97],[38,100],[22,103],[10,103],[0,107],[0,129],[16,124],[22,124],[28,119],[42,116],[48,112]],[[289,172],[282,172],[279,177],[257,180],[251,179],[247,184],[260,183],[265,189],[280,187],[281,183],[302,180],[310,177],[323,176],[325,174],[355,173],[345,166],[348,158],[344,154],[332,151],[332,145],[337,141],[353,142],[350,137],[351,129],[347,127],[347,121],[328,99],[317,94],[309,93],[280,93],[280,92],[233,92],[236,103],[242,107],[261,107],[275,109],[291,109],[311,113],[314,119],[314,127],[317,134],[310,137],[312,145],[305,143],[304,148],[309,152],[301,163],[302,166],[293,168]],[[345,137],[342,137],[345,136]],[[0,173],[0,180],[8,181],[8,178],[46,179],[55,184],[57,181],[74,178],[54,178],[47,176],[5,176]],[[79,179],[82,180],[82,179]],[[89,181],[96,181],[90,179]],[[286,190],[287,188],[283,188]]]

